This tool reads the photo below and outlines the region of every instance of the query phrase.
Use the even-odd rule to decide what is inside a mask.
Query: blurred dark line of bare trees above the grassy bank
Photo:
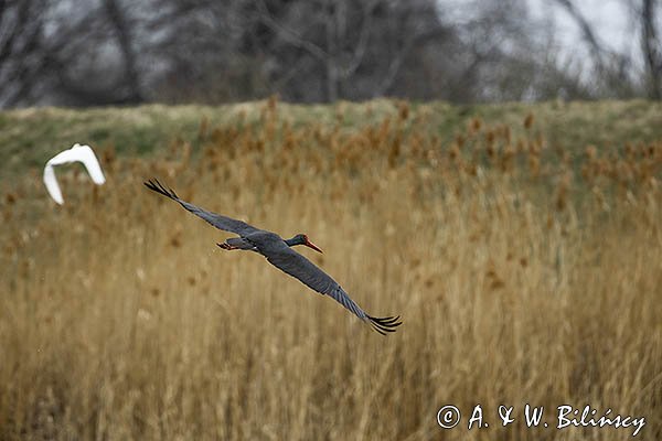
[[[580,29],[576,54],[524,0],[0,0],[0,107],[660,99],[660,0],[623,0],[631,54],[546,1]]]

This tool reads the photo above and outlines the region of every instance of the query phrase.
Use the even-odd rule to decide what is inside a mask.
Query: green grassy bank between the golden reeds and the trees
[[[335,106],[280,104],[280,116],[292,126],[339,125],[345,130],[380,123],[394,117],[397,101]],[[173,140],[199,147],[205,128],[258,123],[260,104],[204,106],[141,106],[72,110],[58,108],[0,112],[0,175],[14,176],[26,168],[40,169],[57,151],[74,142],[114,148],[120,154],[160,151]],[[419,104],[409,108],[425,135],[436,135],[448,144],[474,118],[485,123],[506,125],[522,135],[522,121],[532,115],[535,130],[554,146],[622,148],[626,142],[662,139],[662,104],[649,101],[600,101],[451,106]],[[201,129],[203,132],[201,132]]]

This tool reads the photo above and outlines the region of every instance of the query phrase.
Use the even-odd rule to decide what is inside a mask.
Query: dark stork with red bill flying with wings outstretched
[[[267,258],[269,263],[274,265],[279,270],[292,276],[308,288],[319,292],[320,294],[330,295],[350,312],[355,314],[362,321],[369,323],[380,334],[385,335],[387,332],[394,332],[402,324],[398,316],[375,318],[363,311],[350,295],[341,288],[335,280],[329,275],[319,269],[313,262],[295,251],[291,247],[305,245],[322,252],[317,245],[312,244],[308,236],[298,234],[290,239],[282,239],[275,233],[266,232],[256,228],[245,222],[222,216],[220,214],[207,212],[199,206],[195,206],[179,196],[171,190],[167,189],[158,180],[145,182],[145,185],[166,197],[178,202],[182,207],[202,217],[204,220],[224,232],[237,234],[239,237],[228,238],[223,244],[216,244],[226,250],[243,249],[259,252]]]

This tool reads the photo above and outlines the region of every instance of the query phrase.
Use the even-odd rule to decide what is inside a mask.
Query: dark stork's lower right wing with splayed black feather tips
[[[285,243],[282,243],[282,246],[271,246],[269,247],[268,252],[265,251],[266,250],[260,249],[260,252],[265,255],[267,260],[276,268],[296,277],[314,291],[330,295],[337,302],[354,313],[359,319],[370,323],[380,334],[394,332],[395,329],[402,324],[399,316],[374,318],[366,314],[365,311],[354,303],[350,295],[331,278],[331,276],[327,275],[313,262],[288,247]]]

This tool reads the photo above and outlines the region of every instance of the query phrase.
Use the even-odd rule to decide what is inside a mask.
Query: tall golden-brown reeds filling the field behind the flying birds
[[[370,110],[367,110],[370,111]],[[201,123],[200,151],[100,158],[2,201],[0,439],[622,440],[526,428],[525,404],[643,416],[662,438],[662,144],[554,146],[535,116],[450,144],[401,104],[377,125]],[[342,119],[342,115],[338,116]],[[290,236],[339,304],[141,182]],[[489,429],[467,430],[480,404]],[[437,411],[463,412],[452,430]],[[519,420],[500,427],[496,409]],[[547,413],[546,413],[547,416]]]

